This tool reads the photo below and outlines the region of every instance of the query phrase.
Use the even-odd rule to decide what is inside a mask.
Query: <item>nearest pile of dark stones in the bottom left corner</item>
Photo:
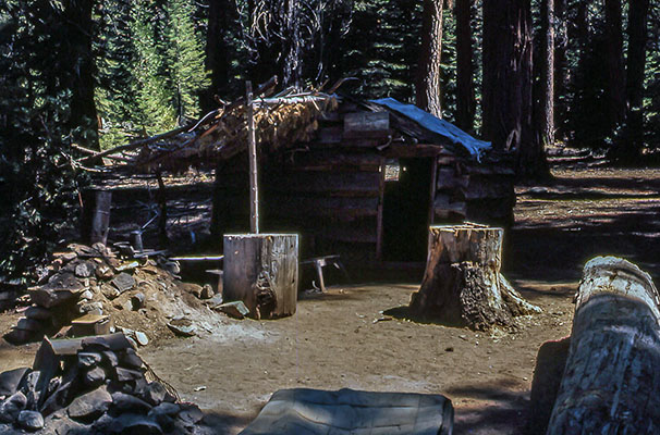
[[[203,417],[123,334],[45,339],[33,369],[0,374],[2,434],[198,434]]]

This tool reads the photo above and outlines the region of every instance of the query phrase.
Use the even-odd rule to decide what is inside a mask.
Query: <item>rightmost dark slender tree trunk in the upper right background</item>
[[[627,113],[625,125],[626,154],[636,160],[644,147],[644,70],[649,0],[631,0],[628,10],[628,57],[626,67]],[[624,144],[625,146],[625,144]]]

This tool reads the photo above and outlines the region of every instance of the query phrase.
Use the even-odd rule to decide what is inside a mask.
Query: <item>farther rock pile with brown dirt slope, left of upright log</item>
[[[102,244],[69,248],[54,256],[39,285],[28,289],[32,304],[5,334],[8,341],[122,331],[146,345],[152,338],[191,336],[199,330],[211,333],[217,326],[217,315],[201,301],[213,297],[210,286],[179,281],[175,262],[121,259]]]

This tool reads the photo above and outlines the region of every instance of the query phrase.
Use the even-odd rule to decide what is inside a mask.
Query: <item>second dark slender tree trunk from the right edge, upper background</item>
[[[625,71],[623,67],[623,33],[621,0],[606,0],[606,34],[608,41],[609,113],[612,127],[625,116]]]

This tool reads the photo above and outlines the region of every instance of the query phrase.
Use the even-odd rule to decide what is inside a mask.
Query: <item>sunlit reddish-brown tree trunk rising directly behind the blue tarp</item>
[[[416,103],[442,117],[440,100],[440,53],[442,48],[442,0],[424,0],[421,48],[417,64]]]

